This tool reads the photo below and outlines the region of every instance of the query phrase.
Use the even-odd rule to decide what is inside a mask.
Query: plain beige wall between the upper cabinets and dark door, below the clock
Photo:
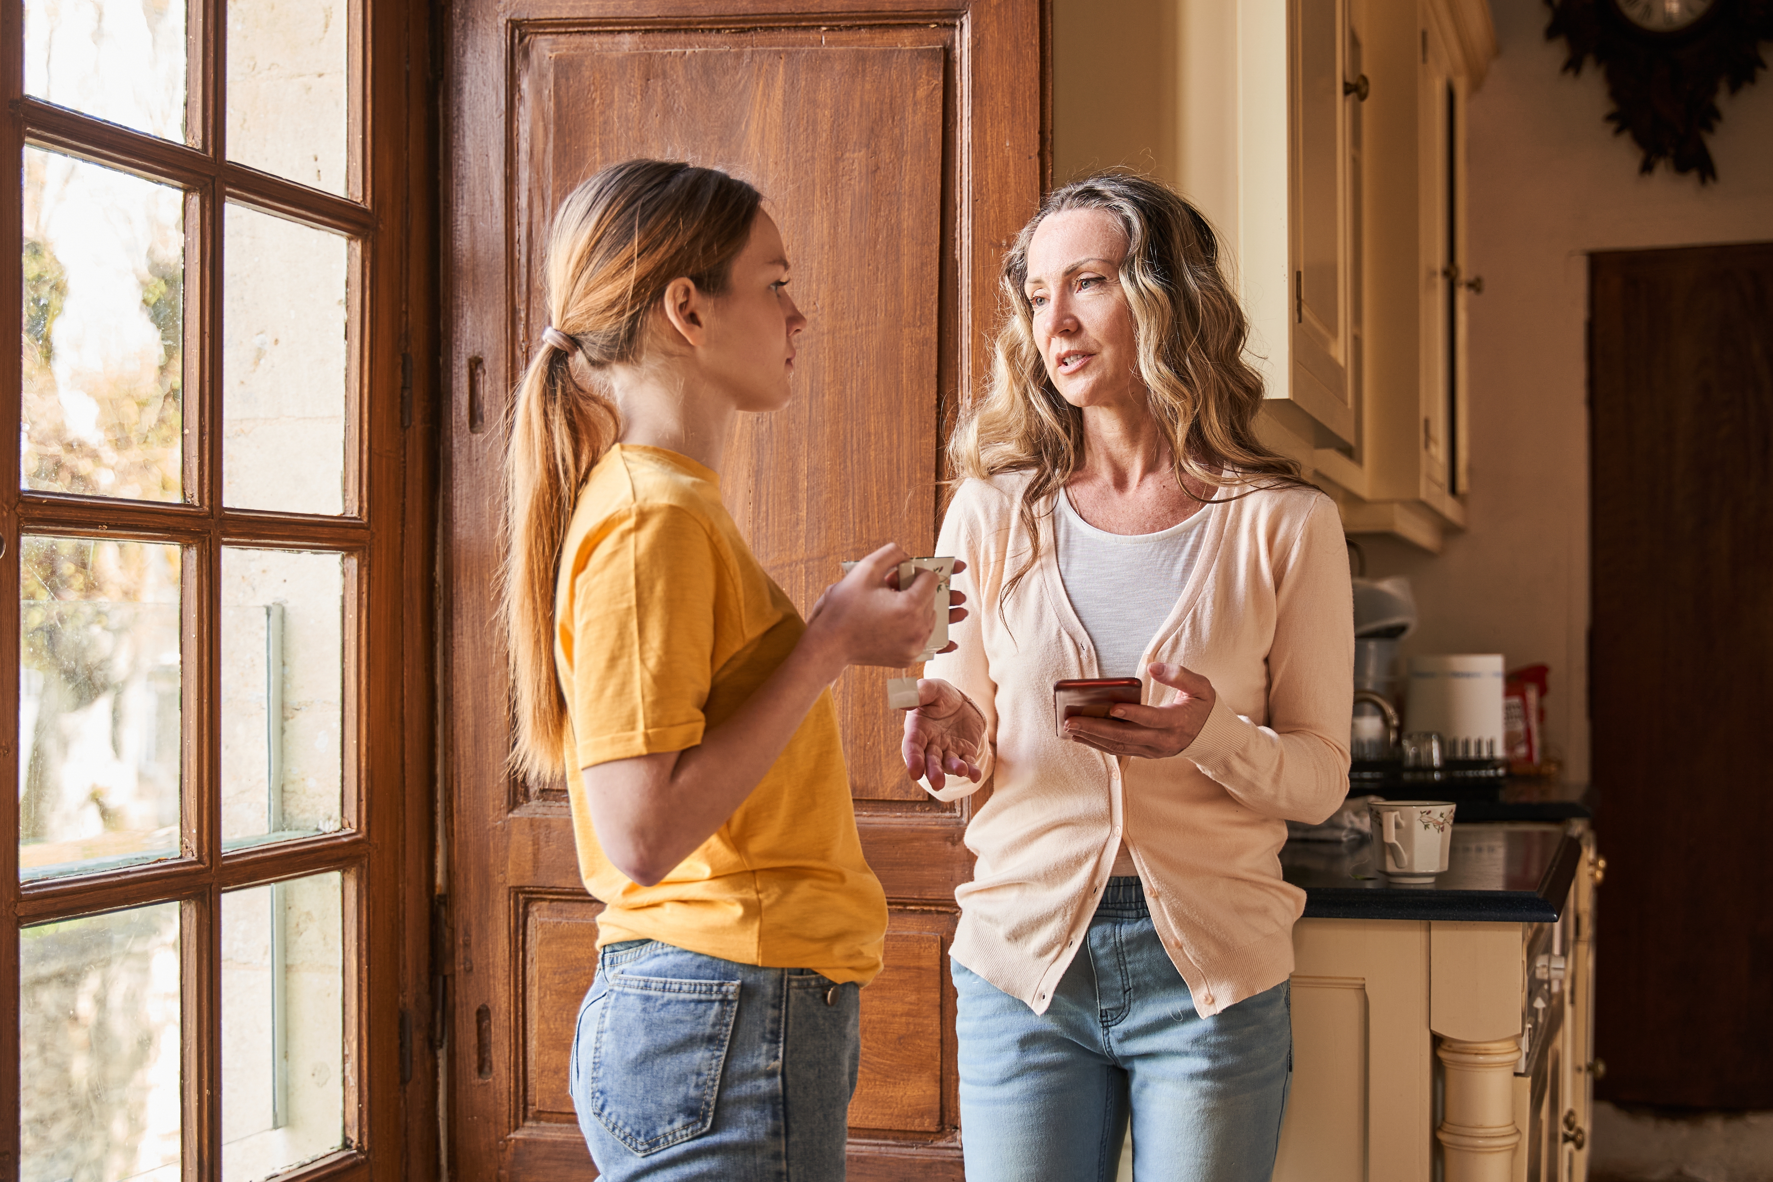
[[[1773,239],[1773,76],[1732,97],[1711,136],[1718,183],[1640,177],[1603,122],[1590,64],[1560,73],[1543,0],[1491,0],[1500,57],[1470,106],[1472,494],[1440,556],[1362,539],[1369,574],[1408,574],[1422,608],[1415,652],[1504,652],[1551,666],[1548,746],[1589,776],[1589,424],[1583,408],[1589,261],[1636,250]],[[1645,473],[1651,475],[1651,473]]]

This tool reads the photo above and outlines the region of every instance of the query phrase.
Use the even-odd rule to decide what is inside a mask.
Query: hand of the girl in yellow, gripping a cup
[[[918,571],[910,587],[899,587],[899,564],[911,555],[888,542],[842,579],[832,583],[807,615],[808,640],[830,643],[842,665],[878,665],[904,668],[917,663],[929,640],[931,613],[936,603],[936,574]],[[954,564],[954,572],[966,569]],[[966,618],[966,610],[954,604],[966,595],[949,592],[949,624]],[[941,652],[950,652],[954,642]]]

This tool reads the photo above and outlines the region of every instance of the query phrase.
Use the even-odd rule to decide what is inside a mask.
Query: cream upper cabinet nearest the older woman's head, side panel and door
[[[1151,158],[1218,229],[1250,321],[1246,356],[1264,381],[1261,429],[1307,468],[1319,445],[1358,438],[1349,117],[1358,99],[1347,89],[1347,30],[1358,19],[1351,11],[1367,4],[1175,0],[1174,53],[1160,62],[1170,83],[1160,92],[1175,96],[1175,136],[1154,126]],[[1057,73],[1067,67],[1126,64],[1105,55],[1067,66],[1055,55],[1055,106],[1067,92]]]

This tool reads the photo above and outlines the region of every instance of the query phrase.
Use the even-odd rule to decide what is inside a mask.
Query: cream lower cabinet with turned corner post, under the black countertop
[[[1298,923],[1278,1182],[1587,1177],[1596,858],[1582,842],[1555,923]]]

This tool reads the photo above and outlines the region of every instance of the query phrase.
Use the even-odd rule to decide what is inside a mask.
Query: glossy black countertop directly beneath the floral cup
[[[1566,820],[1589,810],[1544,799],[1472,805],[1457,805],[1447,872],[1433,884],[1390,883],[1371,838],[1291,840],[1280,851],[1282,874],[1305,890],[1307,920],[1555,921],[1582,863],[1582,842]]]

